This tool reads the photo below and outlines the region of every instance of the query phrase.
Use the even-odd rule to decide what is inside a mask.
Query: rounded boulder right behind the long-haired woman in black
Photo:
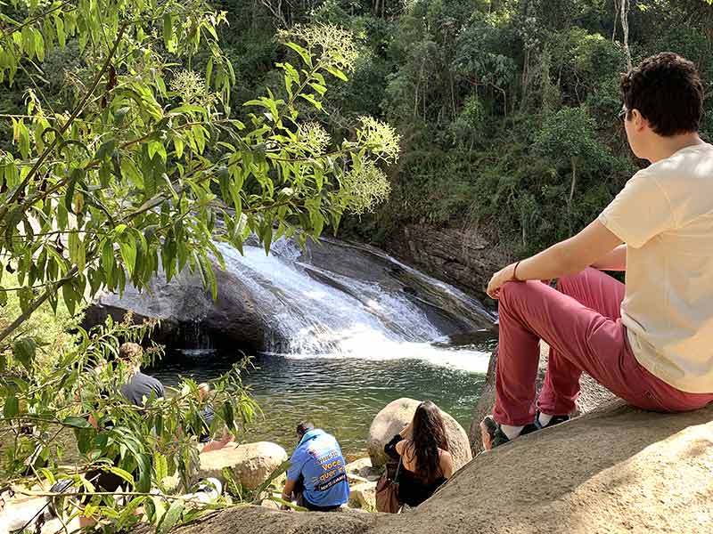
[[[414,399],[397,399],[389,402],[374,417],[369,428],[369,441],[366,444],[374,468],[379,468],[386,464],[387,456],[384,452],[384,445],[391,441],[391,438],[401,432],[404,426],[411,421],[420,403],[421,401],[414,401]],[[446,425],[448,449],[453,455],[455,469],[460,469],[472,459],[468,434],[463,430],[463,426],[459,425],[445,411],[441,410],[441,415]]]

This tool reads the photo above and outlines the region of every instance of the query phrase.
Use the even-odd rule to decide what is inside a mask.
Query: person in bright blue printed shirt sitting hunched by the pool
[[[297,436],[299,445],[290,458],[283,499],[294,499],[312,512],[331,512],[347,504],[349,483],[340,444],[308,421],[297,425]]]

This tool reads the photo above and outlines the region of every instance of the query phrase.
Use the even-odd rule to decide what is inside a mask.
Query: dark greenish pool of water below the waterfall
[[[209,381],[236,360],[225,352],[169,352],[147,372],[168,385],[176,385],[179,376]],[[275,441],[290,451],[295,446],[295,425],[310,419],[335,434],[348,455],[365,452],[373,417],[401,397],[436,402],[467,431],[485,379],[481,372],[407,359],[262,355],[252,366],[243,380],[264,417],[250,428],[247,440]]]

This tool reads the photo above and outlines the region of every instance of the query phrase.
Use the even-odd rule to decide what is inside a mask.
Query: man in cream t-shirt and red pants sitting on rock
[[[485,449],[567,419],[582,371],[641,409],[713,401],[713,146],[698,134],[701,78],[660,53],[622,76],[621,93],[629,145],[651,165],[583,231],[488,284],[500,344]],[[599,270],[627,271],[626,286]],[[556,289],[540,281],[554,278]],[[536,409],[541,339],[551,351]]]

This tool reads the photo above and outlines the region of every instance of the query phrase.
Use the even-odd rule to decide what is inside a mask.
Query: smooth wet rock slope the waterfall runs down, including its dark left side
[[[154,339],[169,347],[180,347],[184,332],[193,331],[231,349],[283,352],[289,349],[294,331],[332,329],[333,325],[322,325],[317,316],[319,312],[324,315],[334,295],[340,298],[336,307],[347,310],[344,324],[335,330],[348,327],[356,313],[368,313],[370,320],[398,332],[404,329],[401,320],[405,318],[398,306],[405,302],[418,311],[412,310],[412,321],[417,315],[417,321],[428,322],[431,330],[443,335],[489,328],[493,323],[478,301],[373,247],[323,239],[306,251],[281,242],[269,261],[262,249],[250,247],[250,252],[252,256],[245,259],[236,251],[224,250],[225,270],[213,263],[215,302],[197,273],[183,271],[169,282],[160,275],[142,293],[128,286],[121,296],[97,295],[86,311],[84,326],[101,323],[108,315],[120,320],[133,311],[135,320],[159,319]],[[328,300],[317,302],[315,295],[322,294]],[[291,320],[297,325],[294,328]]]

